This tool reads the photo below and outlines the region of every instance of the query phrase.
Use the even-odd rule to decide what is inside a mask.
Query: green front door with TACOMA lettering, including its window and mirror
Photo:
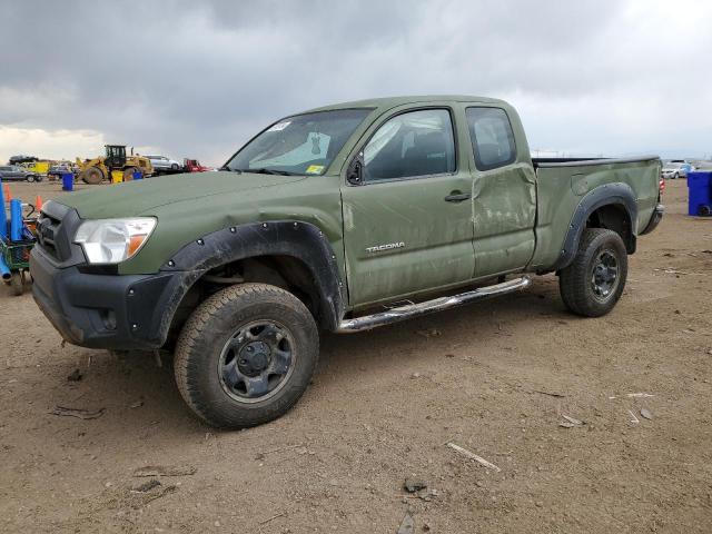
[[[447,107],[392,116],[342,189],[349,303],[365,306],[469,280],[472,175]]]

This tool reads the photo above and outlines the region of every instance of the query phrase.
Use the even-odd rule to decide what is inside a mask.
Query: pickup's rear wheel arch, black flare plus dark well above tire
[[[599,186],[578,202],[554,270],[567,267],[574,259],[586,228],[609,228],[621,236],[627,254],[634,254],[637,240],[637,202],[627,184]]]

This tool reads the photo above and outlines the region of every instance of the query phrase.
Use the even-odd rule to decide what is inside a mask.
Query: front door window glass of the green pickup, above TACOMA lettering
[[[384,123],[364,149],[365,181],[455,171],[455,140],[449,111],[424,109]]]

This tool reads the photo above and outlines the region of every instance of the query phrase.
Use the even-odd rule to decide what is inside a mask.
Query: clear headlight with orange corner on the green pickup
[[[86,220],[75,243],[81,245],[90,264],[118,264],[138,253],[154,228],[154,217]]]

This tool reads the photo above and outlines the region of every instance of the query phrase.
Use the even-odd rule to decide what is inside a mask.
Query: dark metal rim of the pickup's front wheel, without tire
[[[225,393],[240,403],[275,396],[289,380],[296,363],[289,330],[274,320],[239,327],[227,340],[218,360]]]

